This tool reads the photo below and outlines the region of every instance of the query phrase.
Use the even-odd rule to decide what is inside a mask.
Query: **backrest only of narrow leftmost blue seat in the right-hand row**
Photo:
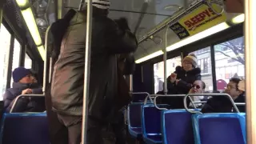
[[[141,127],[141,110],[143,103],[132,103],[128,106],[129,127]]]

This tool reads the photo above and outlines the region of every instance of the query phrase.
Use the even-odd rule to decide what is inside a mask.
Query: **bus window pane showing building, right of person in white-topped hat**
[[[210,47],[194,51],[190,54],[195,54],[198,58],[198,67],[201,69],[202,81],[206,83],[206,91],[214,90]]]

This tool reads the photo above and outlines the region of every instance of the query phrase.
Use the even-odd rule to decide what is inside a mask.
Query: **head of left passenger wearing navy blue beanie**
[[[31,76],[31,71],[24,67],[18,67],[13,71],[14,82],[33,83],[33,78]]]

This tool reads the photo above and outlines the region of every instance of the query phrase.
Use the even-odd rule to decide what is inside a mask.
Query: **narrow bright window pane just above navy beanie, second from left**
[[[12,71],[19,66],[20,54],[21,54],[21,44],[15,38],[14,39],[14,55],[13,55]],[[13,76],[11,76],[10,87],[12,87],[13,82],[14,82]]]

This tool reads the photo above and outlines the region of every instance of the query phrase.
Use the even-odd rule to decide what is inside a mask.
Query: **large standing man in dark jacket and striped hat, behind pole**
[[[88,144],[102,143],[102,123],[114,114],[118,87],[116,54],[134,52],[138,46],[128,26],[118,26],[107,17],[109,7],[109,0],[93,0]],[[70,144],[81,142],[85,44],[86,10],[82,10],[71,19],[62,38],[51,87],[53,110],[69,131]]]

